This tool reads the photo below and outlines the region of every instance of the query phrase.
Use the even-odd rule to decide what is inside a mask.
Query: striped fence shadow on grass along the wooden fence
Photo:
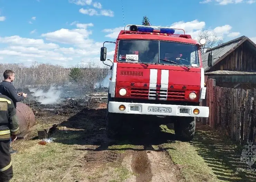
[[[219,180],[256,181],[256,166],[252,166],[254,172],[246,171],[248,165],[240,161],[242,147],[225,136],[218,135],[207,126],[198,125],[195,138],[190,143]],[[240,169],[245,171],[239,171]]]

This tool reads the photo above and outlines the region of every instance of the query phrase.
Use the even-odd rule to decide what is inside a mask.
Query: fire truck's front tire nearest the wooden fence
[[[195,134],[195,117],[180,117],[174,123],[174,131],[180,141],[191,141]]]

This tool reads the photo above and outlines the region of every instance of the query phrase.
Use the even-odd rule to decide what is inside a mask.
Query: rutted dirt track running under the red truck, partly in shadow
[[[80,136],[76,142],[85,144],[85,148],[79,150],[86,151],[84,168],[91,177],[83,181],[177,181],[175,165],[157,146],[152,146],[156,142],[152,137],[158,138],[156,134],[143,136],[141,132],[129,132],[125,141],[113,141],[107,138],[105,117],[106,104],[100,104],[98,108],[81,111],[62,123],[72,128],[72,132],[78,130]],[[98,174],[101,170],[104,172],[95,176],[95,172]]]

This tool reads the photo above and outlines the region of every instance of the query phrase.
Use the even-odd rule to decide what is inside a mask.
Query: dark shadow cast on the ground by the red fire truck
[[[124,138],[109,140],[106,135],[106,109],[83,109],[67,121],[59,124],[59,130],[54,133],[55,142],[63,144],[92,145],[91,148],[76,150],[152,150],[152,145],[175,142],[175,134],[163,132],[156,120],[136,120],[126,117],[129,123],[124,128]],[[161,119],[161,118],[160,118]],[[157,120],[159,121],[159,119]],[[67,133],[63,131],[67,127]],[[123,145],[122,148],[111,148],[113,145]],[[141,146],[137,148],[136,146]],[[127,146],[127,147],[126,147]]]

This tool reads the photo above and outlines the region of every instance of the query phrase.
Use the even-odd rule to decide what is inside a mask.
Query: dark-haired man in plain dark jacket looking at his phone
[[[22,101],[24,98],[27,97],[26,93],[18,93],[15,89],[15,87],[12,85],[12,82],[15,78],[15,73],[12,70],[5,70],[3,72],[3,78],[4,80],[0,83],[0,93],[2,95],[6,95],[8,98],[10,98],[14,104],[14,107],[16,109],[17,102]],[[16,153],[16,150],[13,150],[10,148],[10,153]]]

